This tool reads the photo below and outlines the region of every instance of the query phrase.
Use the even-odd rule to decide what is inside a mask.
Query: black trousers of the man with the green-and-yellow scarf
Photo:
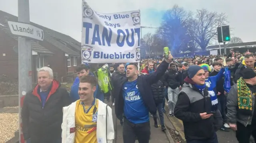
[[[251,135],[256,142],[256,121],[252,121],[252,124],[246,127],[242,123],[236,122],[236,127],[236,139],[239,143],[250,143]]]

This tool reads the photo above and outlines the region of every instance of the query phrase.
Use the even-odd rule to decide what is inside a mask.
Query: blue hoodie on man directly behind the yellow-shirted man
[[[70,98],[71,98],[72,102],[75,102],[76,100],[80,99],[80,97],[78,95],[78,86],[79,86],[80,81],[79,81],[79,78],[78,78],[78,82],[77,82],[77,78],[75,80],[76,83],[74,82],[74,84],[71,86]],[[104,94],[101,92],[98,84],[97,84],[96,90],[94,92],[94,97],[101,100],[102,102],[104,102]]]

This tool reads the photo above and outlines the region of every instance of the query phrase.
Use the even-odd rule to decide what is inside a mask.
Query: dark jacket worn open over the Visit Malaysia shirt
[[[142,96],[142,100],[144,101],[149,112],[153,115],[156,114],[156,105],[150,90],[151,85],[160,80],[164,72],[167,70],[168,65],[169,64],[166,61],[163,61],[155,72],[148,75],[140,75],[137,78],[137,85]],[[116,87],[114,87],[114,93],[116,94],[115,113],[118,119],[122,119],[124,113],[124,97],[122,87],[127,80],[128,79],[125,77],[119,77],[117,79],[118,84],[116,84]]]

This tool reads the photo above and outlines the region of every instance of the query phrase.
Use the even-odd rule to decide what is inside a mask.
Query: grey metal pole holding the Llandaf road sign
[[[18,0],[18,22],[30,23],[29,0]],[[19,83],[19,141],[24,143],[22,133],[21,108],[26,93],[32,88],[31,43],[30,39],[19,37],[18,83]],[[23,141],[22,141],[23,140]]]

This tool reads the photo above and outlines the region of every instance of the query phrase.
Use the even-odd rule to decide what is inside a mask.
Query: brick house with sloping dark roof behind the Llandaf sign
[[[0,75],[18,79],[18,36],[12,35],[7,22],[18,22],[18,17],[0,11]],[[81,44],[72,37],[43,27],[44,41],[31,40],[32,81],[36,82],[37,70],[48,66],[58,80],[66,81],[68,72],[81,64]]]

